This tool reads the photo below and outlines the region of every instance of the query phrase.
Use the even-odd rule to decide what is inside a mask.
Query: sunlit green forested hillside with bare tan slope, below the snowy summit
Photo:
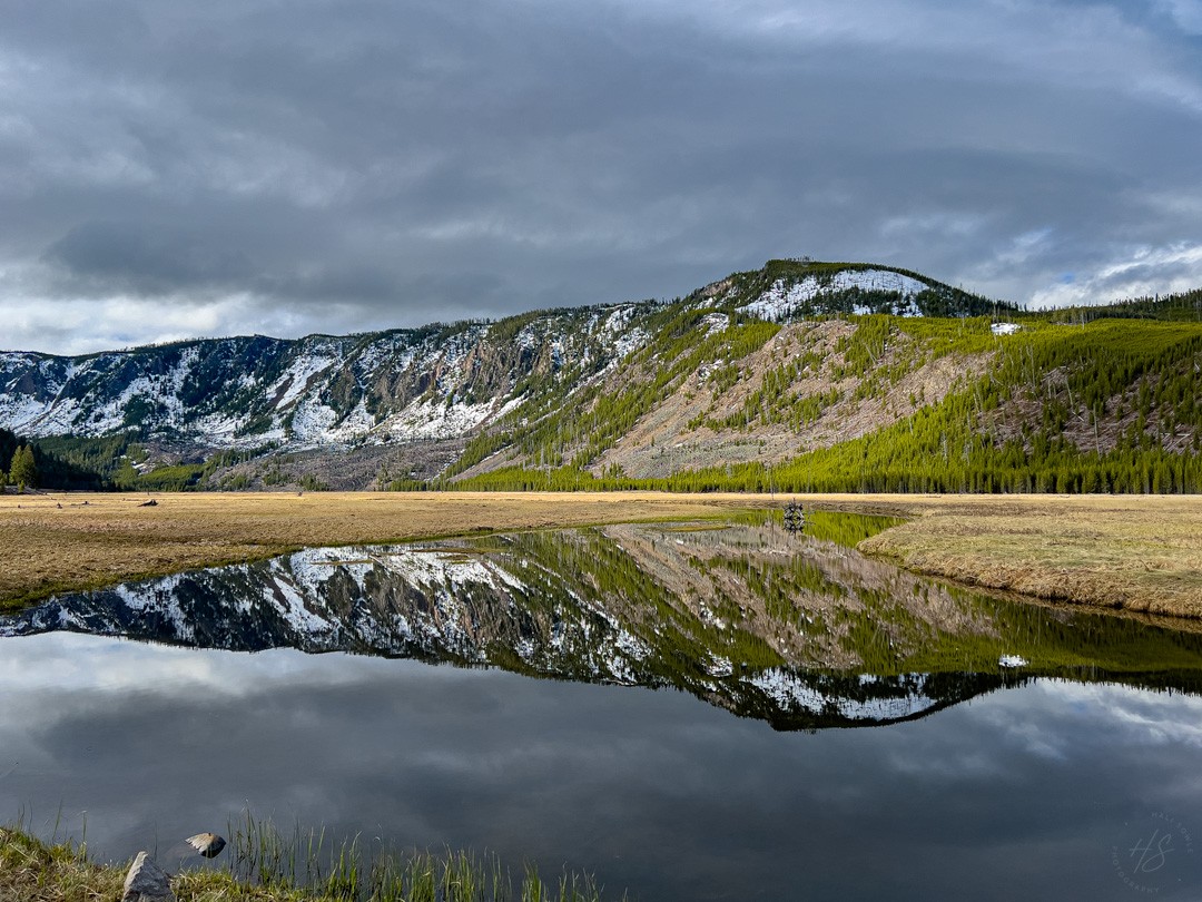
[[[541,465],[472,473],[463,485],[1202,491],[1202,325],[1184,321],[1189,303],[1186,296],[1095,309],[1100,315],[1077,325],[1011,314],[1006,326],[1018,328],[1008,334],[984,318],[870,315],[768,336],[736,325],[691,355],[656,343],[642,354],[657,362],[662,385],[599,387],[576,410],[514,425],[508,437],[481,437],[469,452],[493,452],[494,443]],[[1141,319],[1120,318],[1125,310]],[[1153,319],[1160,313],[1176,321]],[[698,355],[719,362],[698,367]],[[666,399],[659,405],[656,393]],[[697,413],[665,416],[672,398]],[[605,431],[595,422],[614,425],[617,438],[599,443]],[[631,438],[638,447],[620,449]],[[724,445],[725,459],[706,461]],[[565,458],[564,447],[582,450]],[[679,459],[702,465],[654,465]]]

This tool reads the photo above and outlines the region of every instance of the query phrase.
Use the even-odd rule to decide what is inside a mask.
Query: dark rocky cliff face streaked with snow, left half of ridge
[[[526,346],[493,332],[228,338],[76,358],[6,352],[0,423],[32,437],[133,429],[214,449],[448,438],[505,413],[523,376],[578,363],[571,355],[589,344],[583,330],[571,342],[531,334]],[[538,360],[548,339],[561,349],[555,363]]]

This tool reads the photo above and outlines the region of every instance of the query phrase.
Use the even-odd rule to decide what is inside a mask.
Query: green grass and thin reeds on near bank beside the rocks
[[[233,827],[228,870],[182,871],[178,902],[596,902],[589,877],[548,885],[528,865],[513,878],[495,856],[447,850],[364,854],[359,841],[333,845],[316,831],[281,836],[251,817]],[[160,862],[168,871],[173,862]],[[82,845],[43,843],[0,827],[0,898],[11,902],[117,900],[129,862],[97,865]]]

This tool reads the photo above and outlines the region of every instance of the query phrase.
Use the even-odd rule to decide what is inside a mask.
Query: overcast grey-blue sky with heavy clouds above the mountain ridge
[[[1202,0],[0,0],[0,349],[1202,286]]]

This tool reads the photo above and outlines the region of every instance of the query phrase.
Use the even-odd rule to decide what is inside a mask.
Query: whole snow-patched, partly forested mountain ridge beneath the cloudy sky
[[[4,352],[0,426],[144,487],[1182,491],[1202,485],[1191,309],[1031,314],[778,260],[672,302]]]

